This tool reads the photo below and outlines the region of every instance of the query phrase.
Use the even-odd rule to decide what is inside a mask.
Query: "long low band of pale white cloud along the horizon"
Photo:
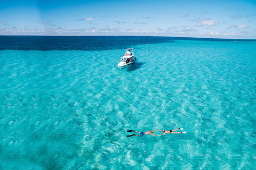
[[[238,25],[233,25],[234,28]],[[15,27],[14,27],[15,28]],[[64,30],[61,27],[59,29],[14,29],[14,28],[0,28],[1,35],[49,35],[49,36],[70,36],[70,35],[152,35],[152,36],[186,36],[186,37],[214,37],[214,38],[234,38],[234,36],[247,36],[252,37],[253,35],[245,35],[246,32],[234,33],[234,32],[199,32],[193,28],[182,28],[182,27],[172,27],[170,29],[162,29],[158,27],[157,31],[133,31],[132,29],[121,30],[121,28],[102,28],[101,30],[96,30],[95,27],[92,28],[81,28],[81,29],[70,29]],[[175,28],[175,29],[174,29]],[[256,29],[254,29],[256,31]]]

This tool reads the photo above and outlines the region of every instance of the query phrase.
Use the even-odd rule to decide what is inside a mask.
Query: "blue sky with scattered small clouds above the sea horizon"
[[[256,39],[256,1],[0,0],[0,35]]]

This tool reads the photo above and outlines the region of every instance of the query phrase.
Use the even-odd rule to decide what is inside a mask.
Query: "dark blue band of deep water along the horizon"
[[[112,50],[143,44],[158,44],[173,40],[235,41],[235,39],[184,38],[184,37],[130,37],[130,36],[0,36],[0,50]],[[239,42],[254,42],[243,40]]]

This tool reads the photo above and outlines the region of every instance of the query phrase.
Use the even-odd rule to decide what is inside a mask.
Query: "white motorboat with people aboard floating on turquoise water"
[[[133,48],[127,48],[123,57],[121,57],[121,62],[118,63],[120,69],[130,67],[137,62],[137,58],[134,57]]]

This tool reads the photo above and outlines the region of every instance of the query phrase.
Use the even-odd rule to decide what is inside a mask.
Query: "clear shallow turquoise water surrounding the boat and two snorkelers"
[[[256,41],[129,47],[0,50],[0,169],[256,166]]]

